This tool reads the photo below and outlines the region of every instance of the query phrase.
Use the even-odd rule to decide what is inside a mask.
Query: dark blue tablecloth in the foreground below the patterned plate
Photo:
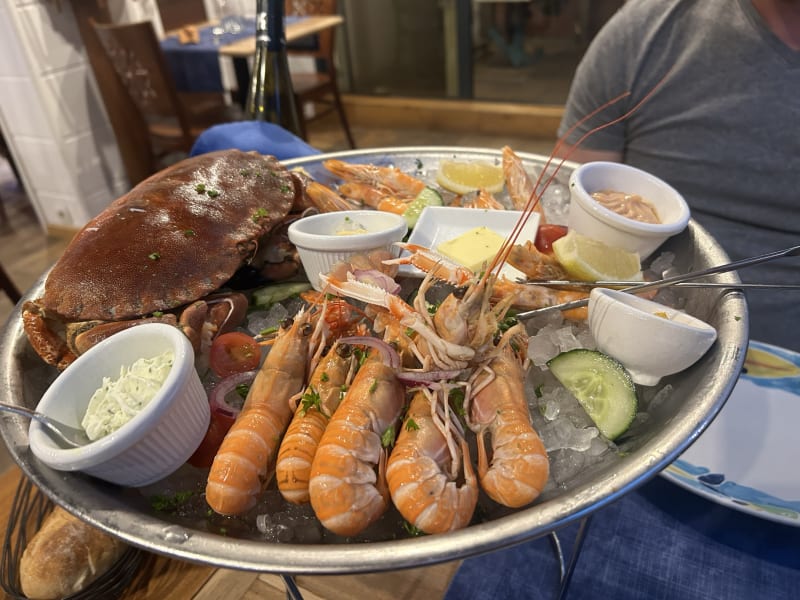
[[[787,457],[788,458],[788,457]],[[578,526],[559,532],[569,554]],[[464,561],[447,600],[555,598],[548,537]],[[731,510],[656,478],[594,513],[569,600],[800,597],[800,527]]]

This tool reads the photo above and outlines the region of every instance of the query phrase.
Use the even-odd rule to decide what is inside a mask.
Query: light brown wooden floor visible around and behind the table
[[[550,140],[513,138],[509,136],[448,133],[429,129],[376,129],[354,127],[360,148],[388,146],[452,145],[500,148],[511,145],[518,151],[548,153]],[[315,124],[310,143],[323,151],[345,149],[344,136],[335,121]],[[48,237],[36,220],[33,209],[13,177],[7,163],[0,161],[0,198],[8,214],[8,223],[0,224],[0,262],[21,290],[28,289],[58,258],[66,241]],[[0,293],[0,323],[11,314],[11,302]],[[13,461],[5,448],[0,448],[0,473]],[[7,510],[7,509],[6,509]],[[0,515],[3,516],[3,515]],[[3,522],[4,519],[0,519]],[[163,562],[159,563],[163,567]],[[298,585],[307,600],[402,600],[442,598],[457,563],[433,567],[355,576],[299,577]],[[213,570],[185,565],[181,584],[169,591],[155,592],[146,582],[131,590],[126,598],[158,598],[183,600],[271,599],[286,598],[285,588],[277,575],[241,571]]]

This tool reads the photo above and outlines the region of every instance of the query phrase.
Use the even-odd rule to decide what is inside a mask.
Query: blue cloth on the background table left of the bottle
[[[286,23],[303,19],[288,16]],[[179,92],[222,92],[222,74],[219,66],[219,48],[246,37],[255,35],[255,21],[239,19],[241,29],[236,33],[223,33],[215,36],[214,27],[198,28],[199,41],[196,44],[181,44],[177,35],[164,38],[161,49],[172,71],[175,87]],[[312,48],[316,44],[314,36],[296,42],[298,48]],[[245,90],[246,91],[246,90]]]

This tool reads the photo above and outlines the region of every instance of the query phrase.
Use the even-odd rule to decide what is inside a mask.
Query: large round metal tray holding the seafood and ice
[[[541,168],[545,157],[521,154],[526,165]],[[499,151],[470,148],[385,148],[319,155],[293,160],[313,177],[326,182],[332,176],[321,166],[326,158],[359,163],[393,164],[412,173],[431,176],[443,158],[499,161]],[[559,175],[566,181],[574,165]],[[691,222],[688,229],[667,242],[681,271],[728,261],[709,234]],[[23,299],[38,297],[45,276]],[[734,274],[715,281],[736,283]],[[70,512],[141,548],[178,559],[285,574],[356,573],[430,565],[465,558],[530,540],[574,522],[633,490],[676,459],[709,425],[731,393],[747,347],[747,307],[740,292],[690,289],[686,307],[711,323],[718,340],[693,367],[666,381],[673,393],[650,419],[625,442],[624,456],[599,469],[590,469],[564,487],[553,487],[532,506],[498,516],[448,534],[392,541],[297,544],[237,539],[171,522],[155,513],[137,490],[126,490],[80,473],[49,469],[28,448],[28,421],[0,418],[11,454],[28,477],[51,499]],[[19,306],[0,339],[0,400],[34,407],[56,375],[44,366],[28,344]]]

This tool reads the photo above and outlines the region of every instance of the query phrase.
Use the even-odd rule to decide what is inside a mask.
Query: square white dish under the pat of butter
[[[522,212],[518,210],[426,206],[422,209],[419,220],[408,238],[408,243],[435,251],[442,242],[457,238],[462,233],[481,226],[488,227],[505,238],[514,229],[521,216]],[[517,238],[517,243],[535,240],[538,230],[539,214],[533,213],[528,217],[525,227]],[[408,252],[403,252],[401,256],[408,256]],[[411,265],[402,265],[400,272],[408,277],[425,276],[425,273]],[[517,277],[525,277],[524,273],[511,265],[504,265],[500,274],[512,280]]]

